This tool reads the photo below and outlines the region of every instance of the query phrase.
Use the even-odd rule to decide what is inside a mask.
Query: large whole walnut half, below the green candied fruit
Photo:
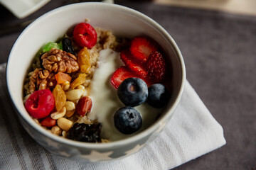
[[[43,67],[49,72],[76,72],[79,69],[75,55],[63,50],[51,49],[42,55]]]

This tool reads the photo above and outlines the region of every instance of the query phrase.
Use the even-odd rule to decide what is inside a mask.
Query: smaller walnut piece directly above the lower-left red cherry
[[[54,75],[54,73],[50,73],[47,69],[35,69],[28,84],[28,94],[32,94],[36,90],[50,89],[55,86]]]

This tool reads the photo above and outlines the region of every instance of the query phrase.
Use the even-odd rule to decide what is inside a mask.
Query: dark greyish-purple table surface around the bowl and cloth
[[[183,53],[188,81],[223,126],[225,146],[176,169],[256,169],[256,17],[145,1],[115,3],[141,11],[170,33]],[[65,4],[50,1],[22,20],[0,6],[0,28]],[[0,63],[22,30],[0,35]]]

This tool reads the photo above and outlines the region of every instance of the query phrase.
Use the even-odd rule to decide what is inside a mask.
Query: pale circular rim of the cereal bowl
[[[36,25],[36,23],[40,22],[40,20],[42,18],[46,18],[46,17],[48,17],[48,16],[50,16],[54,13],[58,13],[59,11],[70,10],[70,8],[76,8],[78,6],[95,6],[95,5],[101,6],[101,7],[117,9],[117,10],[122,11],[124,13],[130,13],[132,16],[136,16],[138,18],[141,18],[144,22],[148,23],[153,28],[156,28],[156,30],[159,30],[159,33],[164,35],[166,37],[166,40],[171,43],[174,51],[176,52],[178,60],[181,64],[181,86],[180,86],[180,89],[178,90],[178,94],[177,94],[176,98],[174,98],[174,103],[172,103],[172,105],[166,110],[166,112],[168,112],[168,113],[166,115],[164,115],[161,119],[156,120],[156,122],[154,122],[151,126],[149,126],[149,128],[146,128],[142,132],[139,132],[138,134],[136,134],[132,137],[128,137],[128,138],[123,139],[123,140],[107,142],[107,143],[79,142],[79,141],[75,141],[75,140],[69,140],[69,139],[66,139],[64,137],[59,137],[57,135],[54,135],[54,134],[48,132],[47,130],[41,128],[41,125],[38,125],[35,121],[33,121],[32,118],[27,119],[23,115],[21,109],[18,108],[15,105],[15,103],[14,103],[14,93],[9,88],[9,86],[11,84],[11,82],[9,80],[9,79],[11,79],[11,77],[9,76],[9,72],[10,72],[9,70],[11,69],[10,61],[13,58],[12,56],[13,56],[13,53],[16,49],[16,45],[20,42],[23,35],[26,35],[26,33],[31,28],[33,28],[33,26]],[[52,11],[48,11],[47,13],[38,17],[35,21],[33,21],[33,23],[31,23],[29,26],[27,26],[25,28],[25,30],[23,30],[23,32],[18,36],[16,42],[14,43],[13,47],[11,48],[9,59],[7,61],[7,65],[6,65],[7,89],[9,91],[9,96],[11,98],[11,101],[14,103],[14,106],[16,107],[16,110],[18,111],[18,115],[20,115],[21,118],[23,118],[23,120],[25,120],[26,123],[31,125],[35,130],[40,132],[41,135],[44,135],[44,136],[50,138],[51,140],[53,140],[55,142],[60,142],[63,145],[68,145],[68,146],[72,146],[72,147],[88,148],[88,149],[94,149],[94,148],[107,149],[109,147],[118,147],[118,146],[122,146],[122,145],[127,145],[127,143],[132,143],[132,142],[135,142],[135,141],[139,141],[139,140],[143,139],[144,137],[146,137],[146,135],[148,135],[150,133],[153,133],[156,130],[156,128],[158,128],[159,123],[163,123],[164,120],[167,120],[171,115],[173,115],[176,107],[178,106],[178,103],[181,100],[181,96],[183,94],[183,89],[184,89],[184,86],[185,86],[185,81],[186,81],[186,68],[185,68],[185,64],[184,64],[184,61],[183,61],[181,51],[179,50],[178,45],[176,45],[176,42],[171,37],[171,35],[169,35],[169,33],[162,26],[160,26],[159,23],[156,23],[156,21],[154,21],[149,16],[146,16],[144,13],[136,11],[132,8],[129,8],[129,7],[126,7],[126,6],[121,6],[121,5],[118,5],[118,4],[107,4],[107,3],[102,3],[102,2],[82,2],[82,3],[77,3],[77,4],[69,4],[69,5],[66,5],[66,6],[60,6],[58,8],[53,9]]]

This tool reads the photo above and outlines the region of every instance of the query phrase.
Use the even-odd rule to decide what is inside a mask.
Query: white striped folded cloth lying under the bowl
[[[172,169],[225,145],[223,128],[186,81],[173,118],[156,140],[124,159],[79,163],[50,154],[18,123],[0,65],[0,169]]]

